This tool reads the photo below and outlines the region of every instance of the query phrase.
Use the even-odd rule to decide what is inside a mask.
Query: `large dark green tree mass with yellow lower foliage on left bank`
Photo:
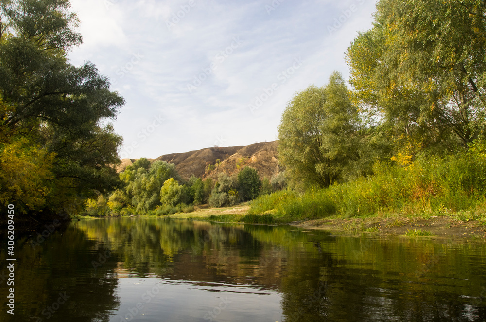
[[[75,211],[118,184],[124,104],[81,44],[67,0],[0,0],[0,203],[32,214]]]

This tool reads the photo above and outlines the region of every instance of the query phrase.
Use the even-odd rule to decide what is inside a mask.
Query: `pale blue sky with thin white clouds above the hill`
[[[372,26],[375,0],[71,0],[83,44],[69,53],[126,103],[121,158],[278,138],[288,102],[333,71]]]

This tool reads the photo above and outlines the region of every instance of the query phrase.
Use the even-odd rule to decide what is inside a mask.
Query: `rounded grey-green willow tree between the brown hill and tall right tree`
[[[278,127],[278,156],[294,187],[327,187],[362,157],[365,136],[342,76],[310,86],[287,105]]]

